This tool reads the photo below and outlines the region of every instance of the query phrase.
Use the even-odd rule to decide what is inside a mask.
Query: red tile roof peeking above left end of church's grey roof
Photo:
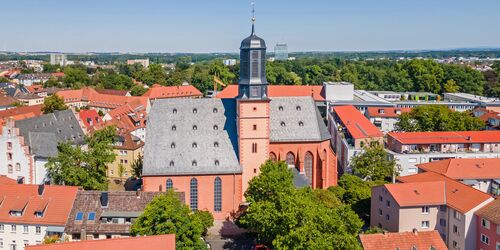
[[[203,94],[193,85],[160,86],[155,85],[144,93],[149,99],[176,98],[176,97],[203,97]]]

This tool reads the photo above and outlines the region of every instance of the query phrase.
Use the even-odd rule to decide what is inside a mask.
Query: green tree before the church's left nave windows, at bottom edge
[[[193,213],[173,191],[155,197],[132,225],[132,235],[175,234],[177,249],[206,249],[207,214]],[[202,218],[203,217],[203,218]],[[213,219],[212,219],[213,220]]]

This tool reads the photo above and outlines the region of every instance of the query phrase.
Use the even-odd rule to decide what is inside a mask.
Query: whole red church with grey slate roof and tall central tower
[[[296,186],[337,184],[331,136],[312,97],[268,96],[266,43],[241,42],[235,98],[155,101],[146,128],[143,190],[185,193],[192,210],[226,219],[266,160],[285,161]]]

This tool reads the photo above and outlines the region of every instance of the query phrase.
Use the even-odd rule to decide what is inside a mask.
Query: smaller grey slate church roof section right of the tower
[[[331,138],[311,97],[275,97],[270,103],[271,142],[324,141]]]

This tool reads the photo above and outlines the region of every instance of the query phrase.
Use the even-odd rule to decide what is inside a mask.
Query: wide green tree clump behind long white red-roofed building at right
[[[396,130],[417,131],[477,131],[484,122],[471,112],[457,112],[443,105],[424,105],[403,113],[396,123]]]

